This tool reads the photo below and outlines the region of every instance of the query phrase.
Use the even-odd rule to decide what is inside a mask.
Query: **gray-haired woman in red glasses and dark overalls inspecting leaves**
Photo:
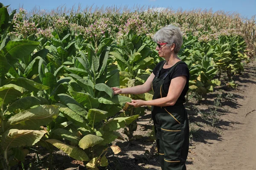
[[[183,106],[189,89],[189,69],[177,53],[182,45],[182,33],[176,26],[161,28],[154,35],[156,50],[165,61],[159,62],[143,85],[113,88],[114,94],[142,94],[154,91],[152,100],[131,100],[129,105],[152,106],[151,113],[157,138],[157,150],[162,170],[186,170],[189,150],[189,121]]]

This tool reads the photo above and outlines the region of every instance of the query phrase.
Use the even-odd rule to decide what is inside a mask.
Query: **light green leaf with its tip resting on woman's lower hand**
[[[122,104],[126,102],[131,102],[131,98],[126,96],[121,96],[121,95],[115,95],[112,98],[110,98],[109,96],[103,96],[99,98],[99,102],[104,104],[109,104],[109,105]]]

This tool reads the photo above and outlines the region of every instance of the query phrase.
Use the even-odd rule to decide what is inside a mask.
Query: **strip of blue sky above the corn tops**
[[[23,8],[30,11],[35,6],[41,9],[54,9],[58,6],[66,5],[71,8],[73,5],[77,8],[81,3],[82,8],[86,6],[128,6],[134,5],[151,6],[151,7],[171,7],[173,9],[182,8],[191,10],[196,8],[210,9],[218,11],[224,10],[229,12],[238,12],[241,17],[250,19],[256,14],[256,0],[2,0],[4,5],[11,4],[11,8]]]

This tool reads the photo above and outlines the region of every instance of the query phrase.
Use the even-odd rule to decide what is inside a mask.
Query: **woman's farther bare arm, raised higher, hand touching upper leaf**
[[[137,85],[131,88],[112,88],[114,94],[143,94],[151,90],[151,82],[154,79],[154,74],[151,73],[147,81],[143,85]]]

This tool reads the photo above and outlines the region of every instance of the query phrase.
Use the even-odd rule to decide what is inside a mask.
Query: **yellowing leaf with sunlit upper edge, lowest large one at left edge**
[[[18,130],[10,129],[2,134],[1,146],[3,150],[9,150],[12,147],[32,146],[37,143],[44,134],[45,130]]]

